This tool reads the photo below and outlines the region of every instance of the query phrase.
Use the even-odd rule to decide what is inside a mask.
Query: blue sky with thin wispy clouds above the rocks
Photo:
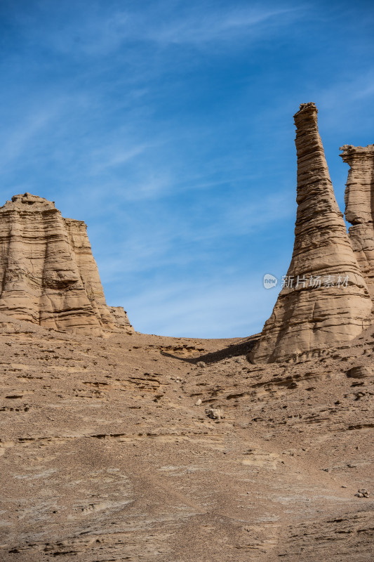
[[[344,209],[342,144],[374,142],[371,1],[2,0],[1,203],[88,224],[135,329],[253,334],[295,223],[300,103]]]

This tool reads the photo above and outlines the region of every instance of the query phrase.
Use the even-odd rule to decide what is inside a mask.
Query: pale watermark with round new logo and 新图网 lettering
[[[278,278],[272,273],[265,273],[262,283],[265,289],[274,289],[278,285]],[[338,287],[338,289],[348,287],[349,275],[282,275],[281,289],[320,289],[328,287]]]

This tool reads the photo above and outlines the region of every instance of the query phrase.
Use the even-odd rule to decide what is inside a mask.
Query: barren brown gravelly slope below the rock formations
[[[0,560],[371,562],[373,337],[253,365],[2,316]]]

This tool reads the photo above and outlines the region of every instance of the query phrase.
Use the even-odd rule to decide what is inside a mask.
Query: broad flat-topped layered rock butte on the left
[[[0,208],[0,242],[1,312],[93,336],[132,329],[105,303],[84,222],[42,197],[15,195]]]

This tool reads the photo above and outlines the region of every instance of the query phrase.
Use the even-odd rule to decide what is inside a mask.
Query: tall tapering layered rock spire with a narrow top
[[[296,113],[298,211],[287,282],[253,362],[273,362],[353,339],[370,324],[372,303],[328,174],[314,103]],[[345,286],[347,285],[347,286]]]

